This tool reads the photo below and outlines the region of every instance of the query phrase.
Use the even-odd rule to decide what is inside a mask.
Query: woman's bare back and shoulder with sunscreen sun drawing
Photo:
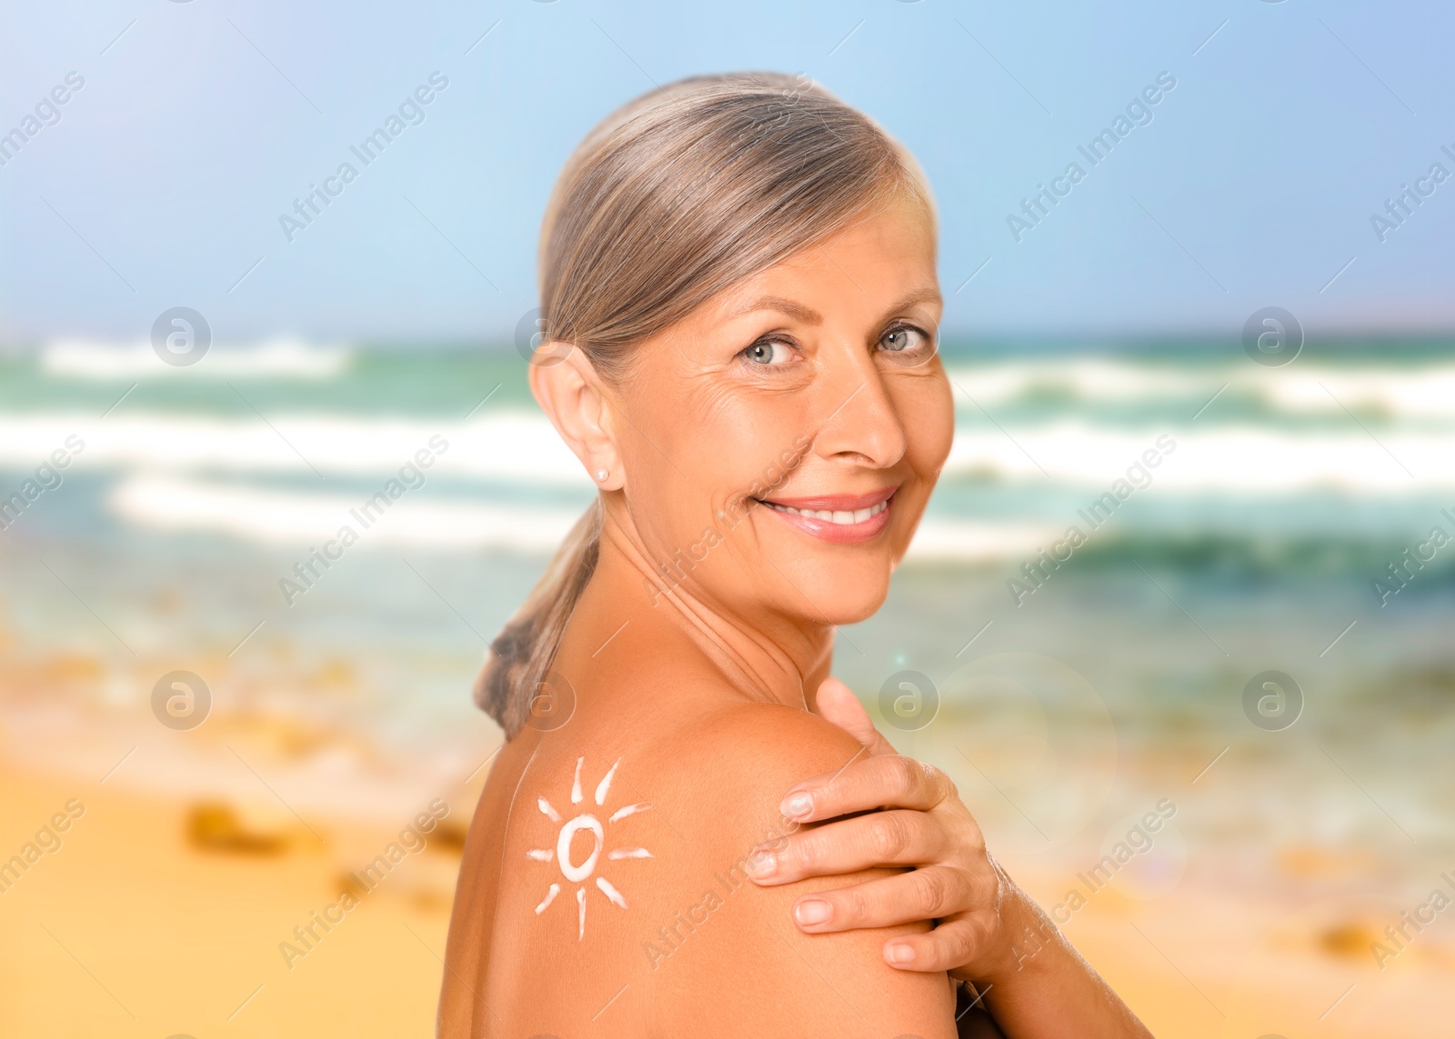
[[[944,976],[882,959],[889,934],[922,928],[802,934],[793,901],[838,883],[744,872],[794,825],[783,790],[858,745],[703,685],[650,712],[605,710],[607,694],[501,751],[460,872],[442,1036],[953,1035]]]

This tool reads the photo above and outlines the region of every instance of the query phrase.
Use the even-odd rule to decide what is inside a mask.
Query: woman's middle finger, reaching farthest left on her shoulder
[[[946,821],[925,812],[856,815],[760,844],[745,869],[760,885],[838,876],[873,866],[924,866],[950,845]]]

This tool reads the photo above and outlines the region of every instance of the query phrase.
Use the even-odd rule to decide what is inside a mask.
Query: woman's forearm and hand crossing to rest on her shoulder
[[[870,813],[776,841],[752,860],[754,880],[778,885],[886,864],[914,869],[796,899],[799,930],[933,920],[931,931],[885,942],[885,960],[902,971],[949,971],[973,982],[1010,1039],[1151,1039],[986,851],[944,773],[898,755],[842,682],[826,681],[818,706],[866,752],[847,768],[793,786],[783,800],[784,815],[816,822]]]

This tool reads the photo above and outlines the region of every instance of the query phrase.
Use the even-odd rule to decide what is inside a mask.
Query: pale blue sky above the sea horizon
[[[653,81],[733,68],[803,71],[914,150],[952,332],[1235,338],[1266,306],[1455,326],[1455,179],[1371,226],[1455,175],[1435,3],[132,0],[0,26],[0,134],[84,79],[0,166],[0,341],[135,341],[175,306],[220,341],[508,339],[579,138]],[[423,121],[362,166],[351,144],[432,73]],[[1077,146],[1163,73],[1151,122],[1091,166]],[[358,179],[290,242],[279,217],[343,162]],[[1017,240],[1007,217],[1072,162]]]

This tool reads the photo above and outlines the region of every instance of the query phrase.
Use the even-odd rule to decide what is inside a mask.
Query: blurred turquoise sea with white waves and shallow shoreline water
[[[1131,896],[1379,918],[1429,892],[1455,866],[1455,339],[1282,365],[966,339],[943,362],[950,460],[835,649],[896,747],[1004,857],[1068,876],[1171,803]],[[288,338],[191,365],[0,352],[3,754],[243,797],[246,745],[303,816],[407,819],[474,777],[486,643],[594,495],[525,371],[509,346]],[[159,725],[179,671],[207,687],[191,731]]]

